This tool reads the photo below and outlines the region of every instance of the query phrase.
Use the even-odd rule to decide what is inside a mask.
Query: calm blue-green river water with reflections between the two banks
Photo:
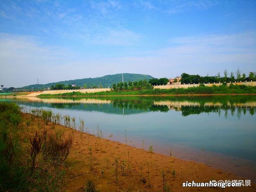
[[[104,137],[256,181],[256,96],[2,99],[85,120]],[[78,122],[76,123],[78,125]],[[223,178],[227,179],[227,178]]]

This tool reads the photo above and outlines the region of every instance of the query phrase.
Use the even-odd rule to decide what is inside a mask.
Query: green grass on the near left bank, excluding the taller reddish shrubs
[[[43,159],[42,151],[31,171],[28,130],[19,106],[0,102],[0,191],[60,191],[65,169]]]

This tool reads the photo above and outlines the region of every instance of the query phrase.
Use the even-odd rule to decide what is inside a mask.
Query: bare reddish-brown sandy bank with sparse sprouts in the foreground
[[[23,114],[23,117],[30,119],[29,114]],[[37,119],[35,121],[37,121]],[[71,153],[67,158],[67,164],[69,164],[70,167],[63,181],[62,189],[65,191],[82,191],[88,178],[92,179],[97,184],[97,188],[101,192],[163,191],[163,179],[159,171],[162,169],[165,170],[165,173],[167,170],[170,170],[170,172],[175,171],[174,175],[168,173],[169,178],[166,180],[170,189],[169,191],[173,192],[223,191],[218,187],[182,187],[182,183],[186,181],[245,180],[233,173],[211,168],[202,163],[185,161],[155,152],[151,154],[147,151],[148,149],[138,149],[109,139],[97,138],[94,135],[84,133],[81,138],[80,131],[66,128],[62,125],[57,125],[54,130],[52,130],[51,125],[46,125],[45,128],[51,132],[62,130],[66,137],[71,134],[74,138]],[[34,126],[30,127],[30,130],[31,135],[33,135],[35,131],[38,131],[36,123]],[[42,132],[43,129],[39,131]],[[92,169],[90,168],[88,137],[89,145],[92,147]],[[118,164],[118,183],[115,182],[114,157],[120,157]],[[147,163],[149,163],[149,174]],[[141,164],[144,166],[142,176],[140,176]],[[123,175],[121,173],[121,166],[124,167]],[[143,178],[145,178],[145,183],[141,181]],[[148,187],[148,181],[150,187]],[[228,187],[225,188],[224,191],[256,191],[255,185],[251,185],[251,187]]]

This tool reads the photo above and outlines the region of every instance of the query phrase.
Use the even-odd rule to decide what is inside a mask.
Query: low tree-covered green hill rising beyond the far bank
[[[124,73],[124,82],[128,81],[140,81],[140,80],[150,80],[154,77],[146,74],[134,74],[134,73]],[[96,78],[83,78],[83,79],[76,79],[76,80],[67,80],[67,81],[59,81],[54,83],[47,83],[47,84],[34,84],[34,85],[28,85],[21,87],[22,89],[42,89],[42,88],[48,88],[52,85],[56,84],[64,84],[64,85],[77,85],[77,86],[83,86],[87,85],[87,87],[91,86],[98,86],[99,83],[102,84],[103,87],[112,86],[114,83],[118,83],[122,81],[122,73],[119,74],[112,74],[112,75],[105,75],[102,77],[96,77]]]

